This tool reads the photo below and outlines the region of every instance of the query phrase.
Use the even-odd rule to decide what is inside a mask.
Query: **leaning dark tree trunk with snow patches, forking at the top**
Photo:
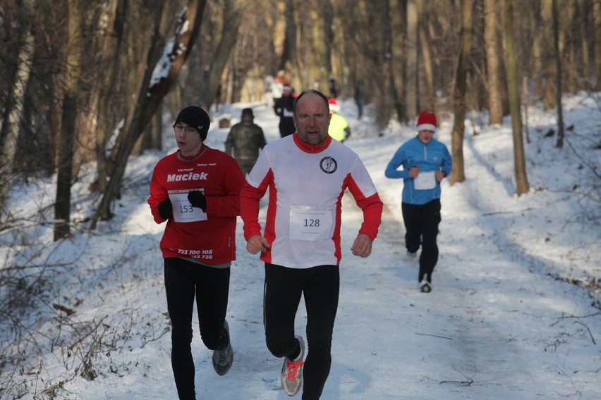
[[[147,55],[147,70],[142,81],[142,87],[140,87],[137,103],[135,104],[133,120],[128,130],[126,132],[122,131],[123,135],[119,135],[117,138],[114,168],[111,170],[107,190],[102,196],[94,218],[92,218],[90,229],[95,229],[98,218],[102,218],[103,220],[111,218],[111,202],[116,198],[121,189],[121,180],[125,173],[128,157],[133,150],[135,142],[142,135],[146,124],[157,111],[164,96],[169,92],[169,88],[176,80],[183,63],[186,62],[200,30],[205,4],[206,1],[204,0],[190,0],[185,11],[180,13],[178,17],[175,37],[168,43],[163,43],[161,38],[166,29],[164,26],[166,25],[166,13],[170,13],[171,8],[169,4],[166,6],[163,1],[158,0],[153,7],[150,7],[155,12],[155,24],[151,49]],[[166,8],[164,8],[165,6]],[[169,65],[158,63],[162,59],[162,52],[165,56],[164,59],[169,59]],[[158,76],[155,75],[159,70],[165,73]],[[152,77],[156,81],[152,82]]]

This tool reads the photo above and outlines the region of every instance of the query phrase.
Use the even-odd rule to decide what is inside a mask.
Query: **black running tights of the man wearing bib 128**
[[[296,269],[265,263],[265,337],[267,349],[274,356],[297,354],[294,319],[301,294],[305,297],[308,353],[303,370],[303,400],[319,399],[329,375],[339,289],[336,265]]]

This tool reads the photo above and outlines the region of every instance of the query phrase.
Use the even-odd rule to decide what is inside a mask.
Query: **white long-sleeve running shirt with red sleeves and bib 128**
[[[363,210],[360,234],[377,236],[382,201],[359,156],[327,137],[319,144],[290,135],[267,144],[241,192],[244,237],[261,235],[259,201],[269,189],[267,263],[289,268],[339,265],[341,199],[353,194]]]

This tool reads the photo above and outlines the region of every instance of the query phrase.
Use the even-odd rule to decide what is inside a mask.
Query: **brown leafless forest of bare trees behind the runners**
[[[297,92],[343,99],[365,84],[377,127],[420,111],[511,115],[518,193],[528,191],[521,105],[601,85],[599,0],[4,0],[0,5],[0,230],[18,180],[56,173],[50,219],[70,234],[70,188],[93,162],[89,228],[111,218],[131,154],[160,146],[161,116],[187,104],[260,101],[283,70]],[[159,73],[160,72],[160,73]],[[377,135],[378,132],[375,132]]]

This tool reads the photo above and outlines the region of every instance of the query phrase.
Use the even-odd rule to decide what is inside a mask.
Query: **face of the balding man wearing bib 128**
[[[303,142],[317,144],[327,137],[331,115],[321,96],[304,94],[296,103],[293,115],[298,138]]]

